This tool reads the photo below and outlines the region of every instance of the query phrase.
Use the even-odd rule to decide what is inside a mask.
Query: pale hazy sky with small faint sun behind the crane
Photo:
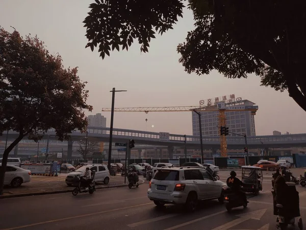
[[[193,28],[188,10],[174,30],[150,43],[149,53],[141,54],[138,42],[129,52],[115,51],[102,60],[97,50],[85,49],[86,29],[82,21],[94,0],[0,0],[0,26],[21,35],[35,34],[45,42],[51,53],[60,53],[65,67],[79,66],[79,75],[88,81],[93,113],[111,107],[113,87],[128,90],[116,94],[115,107],[189,106],[199,100],[235,94],[259,106],[256,115],[257,135],[269,135],[273,130],[305,133],[306,113],[288,96],[272,88],[260,86],[260,79],[226,79],[217,72],[196,76],[187,74],[178,62],[176,45],[183,42]],[[110,112],[102,112],[110,124]],[[88,113],[89,114],[89,113]],[[190,112],[117,112],[114,127],[192,134]],[[151,128],[154,125],[154,128]]]

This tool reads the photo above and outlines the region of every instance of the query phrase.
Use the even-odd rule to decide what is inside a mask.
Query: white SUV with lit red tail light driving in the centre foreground
[[[169,167],[157,170],[149,182],[147,195],[157,206],[185,204],[193,212],[198,200],[218,199],[223,203],[223,186],[226,183],[216,180],[205,169]]]

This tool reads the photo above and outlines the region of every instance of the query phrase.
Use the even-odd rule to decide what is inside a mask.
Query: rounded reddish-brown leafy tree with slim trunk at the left
[[[17,132],[3,154],[0,195],[8,155],[24,137],[37,142],[53,128],[63,141],[73,130],[86,129],[84,110],[92,106],[77,73],[77,67],[65,69],[61,56],[50,54],[37,36],[0,28],[0,132]]]

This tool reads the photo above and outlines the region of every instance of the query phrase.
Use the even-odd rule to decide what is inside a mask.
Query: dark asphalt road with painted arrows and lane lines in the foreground
[[[221,180],[227,174],[220,173]],[[147,198],[147,182],[131,190],[105,189],[92,195],[66,193],[2,199],[0,229],[275,229],[270,180],[267,175],[263,193],[249,195],[246,209],[237,208],[232,213],[227,213],[216,200],[200,203],[192,214],[180,206],[157,208]],[[305,217],[306,188],[296,188],[301,216]]]

